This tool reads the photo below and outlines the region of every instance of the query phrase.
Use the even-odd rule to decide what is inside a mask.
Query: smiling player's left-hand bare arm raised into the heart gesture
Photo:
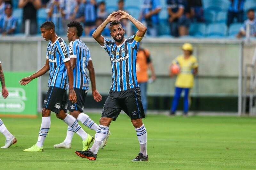
[[[108,25],[108,23],[118,20],[116,18],[116,11],[112,12],[108,18],[92,33],[92,37],[101,45],[104,46],[104,38],[101,35],[101,32],[104,30],[104,28]]]

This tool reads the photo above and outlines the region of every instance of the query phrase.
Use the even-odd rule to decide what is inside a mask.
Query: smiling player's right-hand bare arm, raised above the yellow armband
[[[139,36],[139,37],[142,38],[142,37],[145,35],[145,33],[146,33],[146,31],[147,31],[147,28],[146,28],[143,24],[141,24],[140,21],[138,21],[137,19],[133,18],[133,17],[132,17],[130,14],[128,14],[127,12],[124,12],[124,11],[119,10],[119,11],[117,11],[116,13],[117,13],[118,15],[121,15],[121,17],[119,18],[119,20],[127,18],[127,19],[129,19],[129,20],[136,26],[136,28],[138,29],[138,31],[137,31],[137,33],[136,33],[137,36]]]

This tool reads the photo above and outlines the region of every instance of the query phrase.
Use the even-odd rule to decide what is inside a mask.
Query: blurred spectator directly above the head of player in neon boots
[[[59,0],[50,0],[47,4],[46,12],[48,14],[48,20],[52,21],[55,25],[55,32],[57,34],[64,33],[61,22],[61,15],[64,15],[64,11],[61,2]]]

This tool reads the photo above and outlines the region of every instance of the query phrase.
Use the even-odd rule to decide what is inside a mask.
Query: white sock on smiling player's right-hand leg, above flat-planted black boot
[[[135,128],[135,130],[140,142],[140,153],[143,153],[144,156],[147,156],[147,130],[144,124],[137,129]]]

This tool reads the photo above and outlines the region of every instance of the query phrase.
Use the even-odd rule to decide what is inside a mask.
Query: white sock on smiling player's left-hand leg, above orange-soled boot
[[[94,153],[94,154],[98,153],[101,143],[108,135],[108,130],[109,130],[108,126],[99,125],[99,128],[97,129],[96,134],[95,134],[94,143],[93,143],[92,147],[90,148],[92,153]]]

